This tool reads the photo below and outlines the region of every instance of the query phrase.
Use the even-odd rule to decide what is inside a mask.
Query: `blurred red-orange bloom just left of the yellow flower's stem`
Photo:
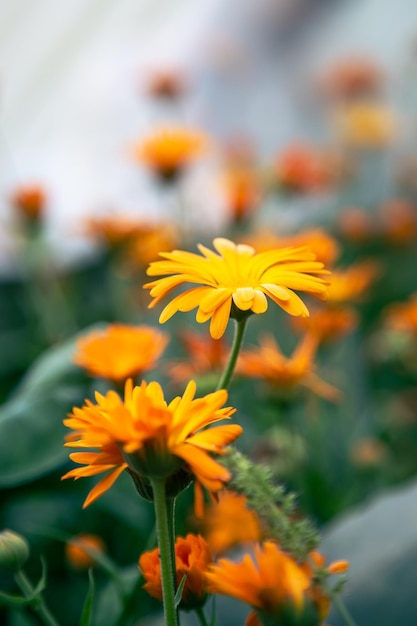
[[[223,371],[229,355],[229,347],[222,339],[213,339],[191,330],[182,331],[180,339],[187,356],[182,361],[170,365],[169,374],[176,382],[184,382],[191,377]]]

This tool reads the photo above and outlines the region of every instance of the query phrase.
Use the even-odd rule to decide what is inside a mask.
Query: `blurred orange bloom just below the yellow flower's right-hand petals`
[[[294,318],[296,330],[309,332],[318,343],[334,341],[346,335],[358,324],[356,311],[346,306],[324,306],[310,311],[310,317]]]

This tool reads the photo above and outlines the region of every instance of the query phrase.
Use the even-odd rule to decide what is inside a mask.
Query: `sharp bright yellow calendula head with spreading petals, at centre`
[[[144,285],[151,290],[154,307],[175,287],[185,283],[196,285],[176,296],[162,311],[161,324],[177,311],[198,307],[196,320],[210,321],[214,339],[223,336],[231,314],[264,313],[266,296],[290,315],[308,316],[308,309],[293,289],[325,296],[327,282],[318,275],[326,274],[323,263],[306,248],[284,248],[256,254],[245,244],[218,238],[213,242],[218,254],[199,244],[203,256],[174,250],[161,253],[163,261],[151,263],[150,276],[166,275]]]

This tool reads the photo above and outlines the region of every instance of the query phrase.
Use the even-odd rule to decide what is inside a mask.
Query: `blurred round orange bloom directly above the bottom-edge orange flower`
[[[220,492],[218,502],[206,510],[202,524],[213,554],[261,538],[259,518],[247,508],[245,496],[230,491]]]

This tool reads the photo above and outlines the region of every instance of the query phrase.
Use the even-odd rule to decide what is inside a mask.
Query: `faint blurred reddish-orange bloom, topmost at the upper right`
[[[374,61],[350,57],[329,69],[320,80],[320,88],[332,98],[355,98],[377,91],[381,82],[381,70]]]

